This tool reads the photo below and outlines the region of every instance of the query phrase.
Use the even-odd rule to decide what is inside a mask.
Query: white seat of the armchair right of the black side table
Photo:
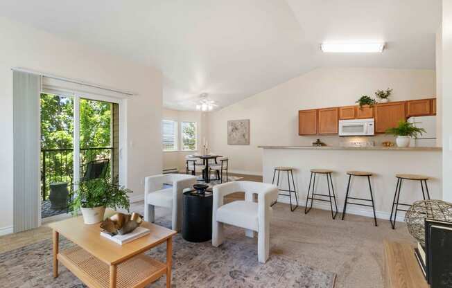
[[[258,215],[256,202],[233,201],[218,208],[216,221],[259,232]]]

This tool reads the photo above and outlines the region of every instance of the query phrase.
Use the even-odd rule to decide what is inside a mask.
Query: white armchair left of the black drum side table
[[[182,227],[182,191],[191,188],[196,177],[186,174],[161,174],[144,179],[144,219],[155,221],[155,206],[173,210],[171,227],[180,231]],[[173,185],[164,189],[164,184]]]

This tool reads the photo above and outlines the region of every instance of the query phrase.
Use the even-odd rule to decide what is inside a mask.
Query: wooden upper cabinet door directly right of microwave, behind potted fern
[[[375,132],[384,133],[396,127],[400,120],[406,120],[405,101],[377,104],[375,107]]]

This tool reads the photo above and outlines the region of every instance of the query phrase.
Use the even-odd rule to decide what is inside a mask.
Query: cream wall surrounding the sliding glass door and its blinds
[[[12,67],[85,80],[138,93],[127,100],[127,186],[134,196],[143,179],[162,170],[162,74],[0,17],[0,233],[12,226]]]

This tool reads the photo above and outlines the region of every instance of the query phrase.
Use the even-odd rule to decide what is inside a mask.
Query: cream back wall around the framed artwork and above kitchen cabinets
[[[321,68],[277,87],[209,113],[209,141],[230,157],[233,172],[261,174],[258,145],[311,145],[316,138],[338,145],[338,136],[298,136],[298,110],[354,105],[363,94],[394,89],[391,100],[435,96],[435,71],[401,69]],[[227,120],[250,119],[250,145],[227,145]],[[371,140],[381,142],[382,137]]]

